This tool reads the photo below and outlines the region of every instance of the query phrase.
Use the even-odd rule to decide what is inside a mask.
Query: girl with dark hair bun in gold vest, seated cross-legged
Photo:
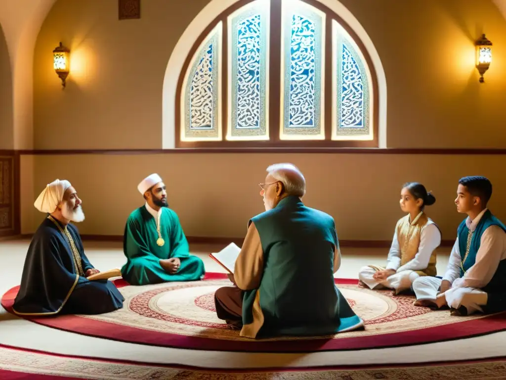
[[[441,244],[439,227],[424,212],[436,198],[418,182],[402,186],[400,206],[407,215],[395,226],[386,267],[368,265],[360,269],[360,286],[389,288],[398,294],[411,288],[420,276],[436,276],[436,248]]]

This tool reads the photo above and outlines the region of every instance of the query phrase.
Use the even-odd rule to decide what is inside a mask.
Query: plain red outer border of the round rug
[[[227,279],[226,274],[210,272],[206,274],[204,281],[224,279]],[[356,284],[357,281],[358,280],[355,279],[335,279],[336,284]],[[122,279],[114,280],[114,283],[118,288],[128,285],[128,283]],[[17,292],[17,288],[18,287],[10,289],[2,297],[2,306],[9,312],[12,312],[10,306],[12,306],[12,301],[14,299],[13,295]],[[441,312],[443,313],[445,311]],[[484,316],[482,318],[470,321],[455,322],[442,326],[428,327],[423,330],[386,333],[381,335],[357,336],[343,339],[320,338],[311,340],[298,340],[297,344],[293,344],[293,340],[218,340],[207,337],[162,333],[130,326],[122,326],[121,332],[119,333],[116,328],[111,328],[111,326],[114,325],[112,323],[88,319],[75,315],[65,315],[58,318],[25,319],[39,325],[55,328],[58,330],[73,332],[80,335],[121,341],[123,343],[216,352],[233,351],[243,353],[250,352],[304,354],[313,352],[355,351],[366,349],[408,347],[414,345],[438,343],[441,341],[451,341],[483,336],[506,330],[506,321],[504,319],[504,316],[506,316],[506,313]],[[421,331],[423,331],[423,333],[420,333]],[[470,333],[470,331],[473,332]],[[125,339],[123,336],[129,336],[130,339]],[[381,339],[378,339],[378,337],[381,337]],[[378,341],[381,341],[381,344],[378,345]]]

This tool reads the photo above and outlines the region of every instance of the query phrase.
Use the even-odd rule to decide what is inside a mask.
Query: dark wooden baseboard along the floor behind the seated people
[[[33,234],[19,235],[17,239],[31,239]],[[122,242],[123,235],[81,235],[82,241],[93,242]],[[244,238],[224,238],[224,237],[207,237],[207,236],[187,236],[189,244],[208,244],[208,245],[226,245],[235,243],[239,247],[242,246]],[[442,240],[441,247],[452,247],[455,240]],[[391,240],[340,240],[339,246],[341,248],[390,248],[392,245]],[[388,252],[385,252],[385,255]]]

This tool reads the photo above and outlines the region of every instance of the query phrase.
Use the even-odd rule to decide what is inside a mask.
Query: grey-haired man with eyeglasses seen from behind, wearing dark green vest
[[[364,323],[334,284],[341,264],[333,218],[304,205],[306,181],[292,164],[267,168],[266,211],[251,218],[234,274],[215,293],[218,318],[241,336],[329,335]]]

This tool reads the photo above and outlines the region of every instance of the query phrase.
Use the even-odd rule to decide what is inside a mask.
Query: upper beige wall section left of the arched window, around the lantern
[[[207,3],[149,0],[142,18],[118,21],[118,3],[58,1],[34,59],[35,148],[161,148],[161,95],[171,51]],[[67,88],[53,70],[71,49]]]

